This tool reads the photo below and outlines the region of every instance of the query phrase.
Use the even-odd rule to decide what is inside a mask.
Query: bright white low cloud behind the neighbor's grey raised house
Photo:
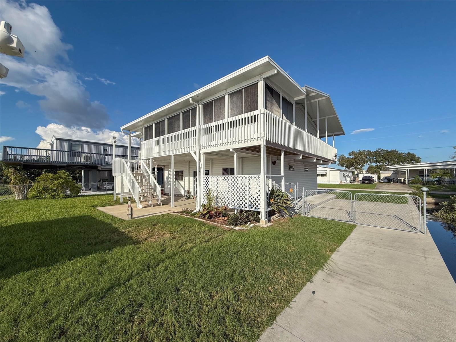
[[[48,124],[45,126],[38,126],[35,131],[41,137],[38,148],[49,148],[49,142],[52,139],[52,135],[67,136],[74,139],[89,139],[99,140],[111,143],[113,141],[113,135],[117,136],[117,142],[119,144],[128,144],[128,134],[123,132],[116,132],[114,130],[92,130],[87,127],[66,127],[62,124]],[[139,139],[132,138],[132,145],[139,145]]]

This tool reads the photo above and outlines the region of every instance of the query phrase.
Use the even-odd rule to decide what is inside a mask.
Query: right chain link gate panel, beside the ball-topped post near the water
[[[421,231],[420,197],[358,192],[354,199],[354,223],[407,232]]]

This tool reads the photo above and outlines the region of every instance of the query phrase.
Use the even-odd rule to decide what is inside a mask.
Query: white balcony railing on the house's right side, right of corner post
[[[266,117],[265,138],[267,141],[289,147],[297,152],[306,152],[306,154],[317,158],[320,157],[329,161],[335,159],[337,150],[331,145],[267,110],[264,112]]]

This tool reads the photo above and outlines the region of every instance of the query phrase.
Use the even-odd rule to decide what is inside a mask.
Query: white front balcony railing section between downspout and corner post
[[[259,142],[264,136],[264,115],[260,110],[201,126],[201,149],[211,150]]]

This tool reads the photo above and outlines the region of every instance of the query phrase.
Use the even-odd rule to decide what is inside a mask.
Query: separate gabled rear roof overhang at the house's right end
[[[316,124],[317,120],[317,104],[318,104],[318,117],[320,121],[320,136],[325,135],[325,119],[328,124],[328,136],[345,135],[342,124],[337,115],[334,104],[332,104],[329,94],[305,85],[306,91],[305,98],[295,98],[295,104],[300,104],[304,107],[304,102],[307,99],[307,114],[311,117],[312,121]]]

